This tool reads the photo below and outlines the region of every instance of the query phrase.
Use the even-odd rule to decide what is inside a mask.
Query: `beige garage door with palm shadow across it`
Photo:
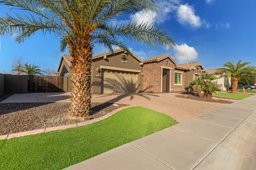
[[[103,71],[103,94],[138,91],[138,73],[115,70]]]

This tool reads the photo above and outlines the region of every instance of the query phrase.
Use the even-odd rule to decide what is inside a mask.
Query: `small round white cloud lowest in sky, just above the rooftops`
[[[180,62],[193,61],[198,58],[198,53],[194,47],[189,47],[187,44],[181,44],[173,47],[174,57]]]

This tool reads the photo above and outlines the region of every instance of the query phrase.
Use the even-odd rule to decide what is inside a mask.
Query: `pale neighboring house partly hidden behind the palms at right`
[[[205,71],[209,74],[215,74],[216,77],[218,78],[217,80],[213,80],[212,82],[215,82],[218,84],[219,88],[221,91],[227,91],[227,87],[231,87],[231,78],[227,78],[225,73],[216,73],[217,69],[206,69]]]

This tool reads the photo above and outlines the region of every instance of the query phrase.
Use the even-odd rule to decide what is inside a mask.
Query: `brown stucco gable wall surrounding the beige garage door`
[[[140,65],[140,62],[131,55],[127,56],[127,63],[122,62],[122,54],[115,53],[108,55],[106,59],[103,57],[93,59],[92,64],[92,93],[93,94],[101,94],[103,90],[102,84],[102,71],[98,72],[97,67],[100,66],[110,66],[110,67],[117,67],[121,69],[132,69],[132,70],[140,70],[143,71],[143,67]],[[142,75],[138,73],[138,91],[142,91]]]

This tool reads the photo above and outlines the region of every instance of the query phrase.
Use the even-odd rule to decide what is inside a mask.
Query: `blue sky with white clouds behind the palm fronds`
[[[199,61],[205,69],[221,67],[227,61],[250,61],[256,65],[256,1],[231,0],[166,0],[154,12],[138,12],[119,20],[155,22],[174,39],[174,48],[158,49],[125,40],[139,57],[170,54],[178,63]],[[9,12],[0,6],[0,17]],[[19,11],[18,11],[19,12]],[[115,22],[115,21],[112,21]],[[41,66],[42,70],[57,69],[62,54],[60,39],[37,32],[18,44],[12,36],[0,36],[0,72],[10,72],[12,62],[22,57],[23,63]],[[108,49],[95,45],[94,54]]]

